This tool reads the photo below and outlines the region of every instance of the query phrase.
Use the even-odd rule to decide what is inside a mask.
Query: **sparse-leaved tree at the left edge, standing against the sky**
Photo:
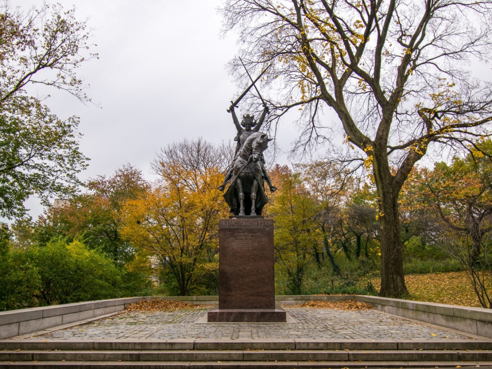
[[[27,88],[90,101],[76,68],[97,54],[87,52],[91,31],[73,9],[44,4],[24,13],[1,1],[0,10],[0,215],[11,219],[26,214],[23,203],[33,194],[45,205],[73,194],[88,160],[79,151],[79,118],[58,118]]]

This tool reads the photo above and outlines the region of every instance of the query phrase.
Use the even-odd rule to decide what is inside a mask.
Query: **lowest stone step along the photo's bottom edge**
[[[417,361],[377,361],[377,362],[346,362],[346,361],[197,361],[197,362],[156,362],[156,361],[38,361],[38,362],[2,362],[0,361],[0,369],[11,368],[36,369],[36,368],[57,368],[57,369],[233,369],[233,368],[256,368],[256,369],[336,369],[336,368],[439,368],[439,369],[471,369],[480,367],[480,369],[492,369],[492,362],[463,362],[463,361],[447,361],[447,362],[417,362]]]

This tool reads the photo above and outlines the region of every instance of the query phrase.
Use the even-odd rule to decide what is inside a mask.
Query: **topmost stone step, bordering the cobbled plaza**
[[[0,339],[0,350],[492,350],[492,339]]]

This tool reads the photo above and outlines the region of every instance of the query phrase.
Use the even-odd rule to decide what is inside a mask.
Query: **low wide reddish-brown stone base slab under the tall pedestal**
[[[219,309],[209,310],[207,321],[210,323],[249,322],[249,323],[285,323],[287,316],[281,307],[275,309]]]

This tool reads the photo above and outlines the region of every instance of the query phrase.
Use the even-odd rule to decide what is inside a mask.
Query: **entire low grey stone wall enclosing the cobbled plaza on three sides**
[[[218,303],[217,296],[131,297],[1,311],[0,339],[95,318],[101,315],[121,311],[126,305],[139,300],[152,300],[155,298],[178,300],[200,305],[215,305]],[[391,314],[492,338],[492,309],[460,307],[456,305],[442,305],[363,295],[276,296],[277,304],[303,304],[313,300],[344,301],[351,299],[368,303],[378,310],[386,311]]]

